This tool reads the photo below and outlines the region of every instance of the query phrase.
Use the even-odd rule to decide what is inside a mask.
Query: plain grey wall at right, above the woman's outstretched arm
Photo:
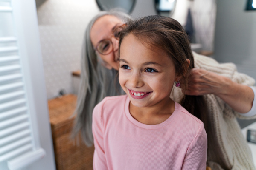
[[[215,59],[233,62],[256,79],[256,11],[244,11],[246,0],[218,0]]]

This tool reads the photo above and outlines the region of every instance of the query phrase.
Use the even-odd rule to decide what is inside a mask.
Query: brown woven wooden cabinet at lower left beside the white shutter
[[[76,96],[69,94],[48,101],[52,140],[57,170],[93,170],[94,147],[79,145],[70,138]]]

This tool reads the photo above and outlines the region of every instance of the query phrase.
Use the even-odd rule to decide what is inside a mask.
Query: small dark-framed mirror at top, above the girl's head
[[[177,0],[155,0],[157,14],[171,17]]]

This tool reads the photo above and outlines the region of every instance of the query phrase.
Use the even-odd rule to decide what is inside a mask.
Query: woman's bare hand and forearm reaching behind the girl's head
[[[253,90],[233,82],[227,77],[201,68],[190,71],[187,95],[214,94],[230,105],[234,111],[247,113],[253,105]]]

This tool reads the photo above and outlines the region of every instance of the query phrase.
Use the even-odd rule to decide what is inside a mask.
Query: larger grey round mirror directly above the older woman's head
[[[131,13],[136,0],[96,0],[100,10],[109,11],[113,8],[122,8],[125,12]]]

